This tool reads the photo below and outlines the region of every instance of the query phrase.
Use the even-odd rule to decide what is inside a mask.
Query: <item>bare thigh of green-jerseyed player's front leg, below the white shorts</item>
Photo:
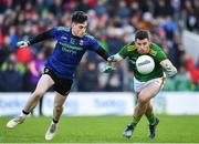
[[[151,97],[158,94],[159,90],[159,84],[151,82],[140,91],[138,99],[143,101],[149,101]]]

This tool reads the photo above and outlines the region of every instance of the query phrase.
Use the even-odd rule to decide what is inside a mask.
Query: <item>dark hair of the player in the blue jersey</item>
[[[72,22],[75,22],[75,23],[83,23],[87,21],[87,14],[83,11],[75,11],[73,14],[72,14]]]

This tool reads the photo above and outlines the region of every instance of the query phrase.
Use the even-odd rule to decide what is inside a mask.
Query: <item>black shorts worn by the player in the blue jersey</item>
[[[49,74],[52,78],[52,80],[54,81],[54,85],[53,85],[54,91],[56,91],[62,95],[67,95],[70,93],[71,86],[73,84],[73,80],[60,79],[54,74],[53,71],[51,71],[48,68],[44,68],[43,74]]]

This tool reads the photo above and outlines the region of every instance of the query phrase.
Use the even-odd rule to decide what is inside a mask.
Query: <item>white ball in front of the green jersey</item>
[[[155,62],[149,55],[142,55],[136,60],[136,69],[142,74],[150,73],[155,68]]]

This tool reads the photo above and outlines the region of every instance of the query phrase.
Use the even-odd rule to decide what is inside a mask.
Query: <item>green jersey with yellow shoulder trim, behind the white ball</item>
[[[149,81],[151,79],[161,78],[164,75],[164,71],[163,71],[163,68],[160,65],[160,62],[163,60],[166,60],[167,56],[166,56],[165,52],[161,50],[161,48],[158,47],[155,43],[150,43],[149,51],[147,53],[147,55],[151,56],[154,59],[154,62],[155,62],[155,69],[148,74],[142,74],[136,69],[136,60],[142,54],[139,54],[137,52],[137,47],[136,47],[136,44],[134,42],[130,43],[130,44],[125,45],[118,52],[118,54],[123,59],[128,58],[130,60],[130,62],[133,64],[134,76],[140,82],[146,82],[146,81]]]

